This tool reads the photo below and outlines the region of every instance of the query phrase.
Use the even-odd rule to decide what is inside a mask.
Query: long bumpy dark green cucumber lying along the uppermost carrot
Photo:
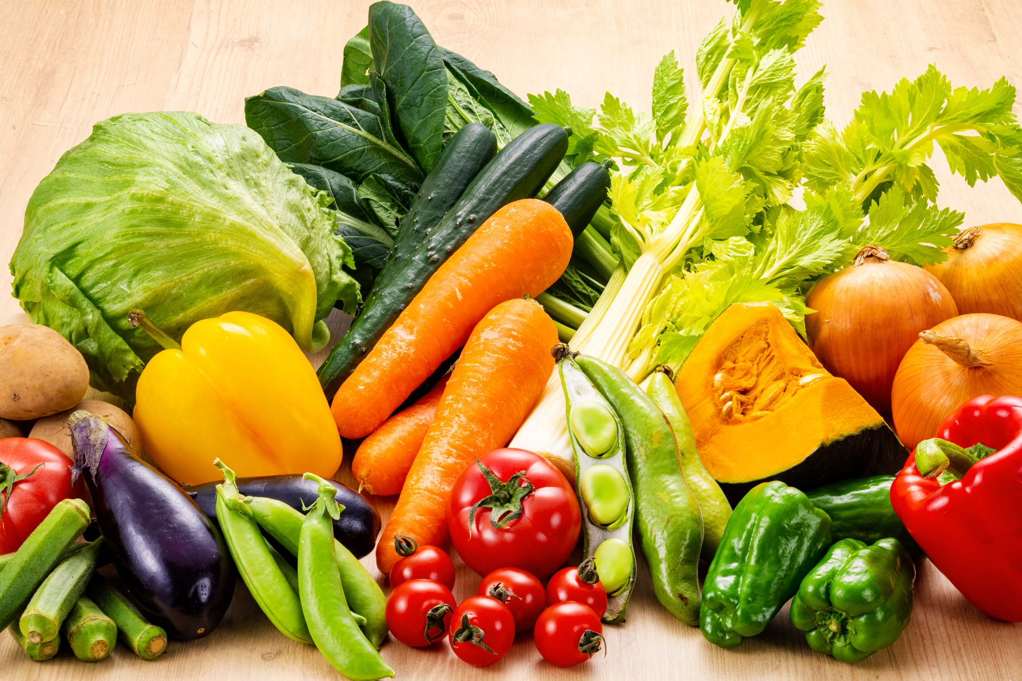
[[[501,149],[462,191],[468,172],[459,164],[443,164],[443,161],[458,136],[469,127],[465,126],[451,139],[440,162],[423,183],[423,200],[450,201],[453,206],[433,224],[428,224],[424,215],[418,221],[413,218],[408,225],[402,223],[392,256],[377,276],[362,313],[319,368],[317,375],[328,400],[333,399],[383,332],[476,227],[511,201],[535,196],[567,150],[568,135],[563,128],[552,124],[536,126]],[[431,185],[430,179],[433,179]],[[427,185],[432,186],[430,191],[425,190]],[[435,212],[430,215],[435,216]],[[406,236],[406,232],[415,236]],[[411,242],[416,237],[423,240],[415,243],[414,248],[411,243],[405,244],[406,238]]]

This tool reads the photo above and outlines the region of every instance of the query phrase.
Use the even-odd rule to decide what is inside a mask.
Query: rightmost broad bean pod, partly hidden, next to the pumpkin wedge
[[[728,497],[724,496],[721,486],[706,471],[699,459],[692,423],[689,421],[688,414],[685,413],[685,407],[682,406],[682,401],[678,397],[678,391],[675,383],[671,382],[669,374],[658,369],[650,377],[646,394],[667,417],[667,422],[670,423],[670,427],[675,432],[678,460],[682,464],[685,482],[688,483],[689,489],[692,490],[696,501],[699,502],[699,510],[703,517],[703,543],[699,555],[703,560],[709,562],[716,554],[716,547],[721,545],[724,529],[728,527],[728,519],[731,517],[731,504],[728,503]]]

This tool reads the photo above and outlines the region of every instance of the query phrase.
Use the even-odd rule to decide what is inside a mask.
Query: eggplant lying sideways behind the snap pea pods
[[[336,481],[328,481],[337,494],[334,499],[344,507],[340,517],[333,521],[333,536],[355,554],[356,558],[369,555],[376,546],[376,535],[380,532],[380,514],[364,496]],[[202,512],[211,519],[217,518],[217,485],[205,483],[189,487],[188,496],[195,500]],[[283,501],[291,508],[301,511],[303,504],[309,508],[319,499],[319,486],[301,475],[264,475],[261,478],[239,478],[238,492],[246,497],[270,497]]]

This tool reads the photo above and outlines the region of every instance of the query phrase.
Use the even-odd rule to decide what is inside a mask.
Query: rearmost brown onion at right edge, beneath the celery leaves
[[[947,261],[927,267],[960,314],[988,312],[1022,321],[1022,225],[1003,222],[956,235]]]

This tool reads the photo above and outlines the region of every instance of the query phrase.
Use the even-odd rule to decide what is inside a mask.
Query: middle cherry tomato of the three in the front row
[[[461,601],[448,629],[454,653],[476,667],[499,662],[514,642],[514,616],[507,605],[490,596]]]

